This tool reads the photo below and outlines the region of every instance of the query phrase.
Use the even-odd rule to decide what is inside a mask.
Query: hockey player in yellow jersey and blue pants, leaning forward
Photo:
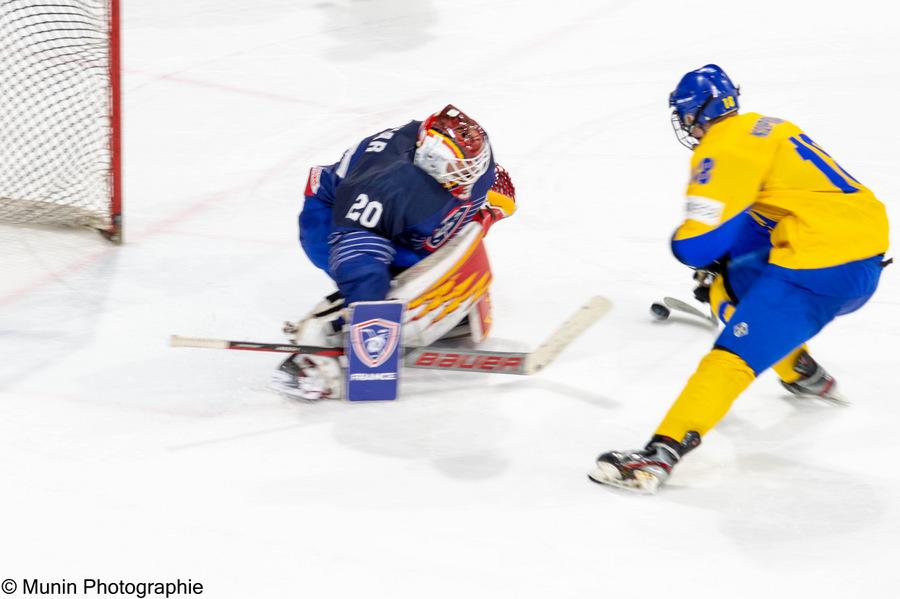
[[[672,252],[711,282],[724,328],[646,447],[602,454],[596,482],[655,492],[767,368],[797,395],[837,397],[805,343],[859,309],[887,264],[884,205],[797,125],[739,113],[738,95],[710,64],[669,98],[693,150]]]

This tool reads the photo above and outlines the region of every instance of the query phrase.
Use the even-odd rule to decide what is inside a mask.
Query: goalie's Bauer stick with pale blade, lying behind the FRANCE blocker
[[[536,374],[549,366],[557,356],[590,325],[606,315],[612,302],[600,296],[592,297],[565,322],[559,325],[533,352],[503,352],[480,349],[442,347],[407,347],[403,350],[403,364],[409,368],[431,368],[461,372],[495,372],[502,374]],[[201,337],[169,338],[172,347],[205,349],[233,349],[278,353],[306,353],[328,356],[343,354],[340,348],[293,345],[290,343],[259,343]]]

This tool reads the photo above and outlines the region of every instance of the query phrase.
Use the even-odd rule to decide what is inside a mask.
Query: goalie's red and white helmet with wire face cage
[[[491,144],[481,125],[448,104],[419,126],[413,162],[450,193],[466,200],[472,184],[487,172]]]

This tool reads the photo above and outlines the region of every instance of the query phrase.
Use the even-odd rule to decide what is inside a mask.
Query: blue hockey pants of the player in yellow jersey
[[[756,374],[815,336],[836,316],[858,310],[878,286],[882,256],[831,268],[768,264],[768,248],[745,254],[725,275],[737,309],[716,347],[740,356]]]

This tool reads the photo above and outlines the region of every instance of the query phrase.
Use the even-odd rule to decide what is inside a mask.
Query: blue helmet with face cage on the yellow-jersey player
[[[672,127],[682,145],[694,149],[700,141],[691,135],[698,125],[706,125],[738,111],[740,88],[718,65],[708,64],[687,73],[669,94]]]

